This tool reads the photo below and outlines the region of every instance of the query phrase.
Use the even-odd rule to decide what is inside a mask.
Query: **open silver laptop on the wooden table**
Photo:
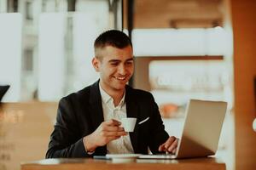
[[[175,159],[212,156],[224,122],[227,103],[190,99],[182,137],[175,155],[143,155],[142,159]]]

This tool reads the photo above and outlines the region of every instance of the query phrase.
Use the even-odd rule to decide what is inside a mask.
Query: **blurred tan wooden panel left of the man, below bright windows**
[[[0,170],[19,170],[20,161],[44,158],[57,107],[37,101],[0,104]]]

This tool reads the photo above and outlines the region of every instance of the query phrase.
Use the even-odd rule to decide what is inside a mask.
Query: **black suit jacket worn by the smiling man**
[[[126,86],[125,103],[127,117],[137,117],[137,123],[149,117],[147,122],[136,124],[134,132],[130,133],[134,152],[148,154],[148,147],[153,153],[158,152],[159,145],[169,136],[152,94]],[[83,144],[83,137],[93,133],[103,121],[99,81],[62,98],[46,158],[106,155],[106,145],[88,155]]]

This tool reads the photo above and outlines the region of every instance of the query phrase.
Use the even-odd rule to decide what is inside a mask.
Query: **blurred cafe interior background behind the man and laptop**
[[[228,170],[255,170],[255,8],[252,0],[0,0],[0,170],[44,159],[59,99],[99,77],[93,42],[108,29],[131,37],[129,84],[154,95],[167,133],[181,136],[189,99],[227,101],[216,157]]]

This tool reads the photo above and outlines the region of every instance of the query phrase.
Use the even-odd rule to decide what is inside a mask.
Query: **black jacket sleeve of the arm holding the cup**
[[[50,135],[46,158],[90,157],[84,149],[83,138],[71,100],[60,100],[54,131]]]

